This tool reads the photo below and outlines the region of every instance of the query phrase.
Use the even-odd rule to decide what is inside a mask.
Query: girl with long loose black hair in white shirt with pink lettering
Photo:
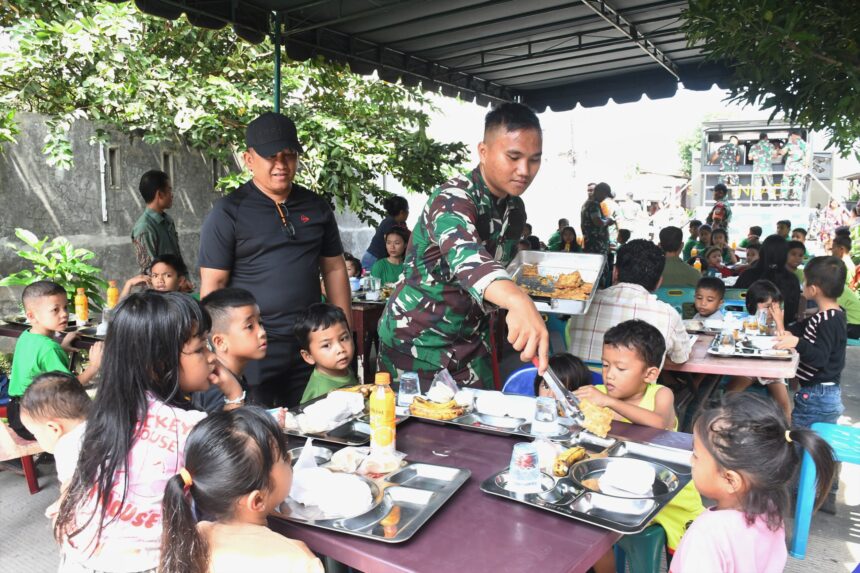
[[[61,573],[158,567],[164,487],[184,464],[191,428],[205,417],[187,410],[186,395],[217,381],[208,331],[208,315],[182,293],[136,293],[117,306],[55,524]]]

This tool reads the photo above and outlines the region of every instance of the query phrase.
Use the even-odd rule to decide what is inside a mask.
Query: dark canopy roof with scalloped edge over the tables
[[[121,2],[125,0],[111,0]],[[232,25],[259,43],[275,15],[287,55],[322,55],[357,73],[421,84],[482,105],[568,110],[726,87],[681,30],[678,0],[135,0],[195,26]]]

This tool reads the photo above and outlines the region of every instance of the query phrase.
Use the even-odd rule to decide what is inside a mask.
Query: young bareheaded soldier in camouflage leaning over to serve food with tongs
[[[520,104],[487,114],[481,162],[436,189],[415,225],[403,280],[379,321],[379,368],[417,372],[424,387],[447,369],[464,386],[493,385],[488,313],[508,310],[508,340],[521,358],[547,360],[549,337],[532,300],[505,271],[503,243],[540,167],[537,117]]]

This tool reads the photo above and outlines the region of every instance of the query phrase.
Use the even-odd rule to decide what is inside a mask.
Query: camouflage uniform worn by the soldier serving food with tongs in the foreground
[[[430,195],[412,232],[403,280],[379,321],[380,370],[394,378],[415,371],[426,384],[447,368],[462,385],[492,387],[484,291],[510,279],[504,255],[498,261],[494,255],[516,206],[491,195],[478,168]]]

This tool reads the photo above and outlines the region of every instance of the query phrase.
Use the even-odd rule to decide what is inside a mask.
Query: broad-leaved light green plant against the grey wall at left
[[[83,288],[87,298],[96,310],[101,310],[105,301],[101,293],[108,284],[101,278],[102,270],[84,261],[96,255],[87,249],[76,249],[65,237],[39,239],[26,229],[15,229],[18,237],[27,248],[17,255],[29,261],[32,269],[24,269],[0,280],[0,286],[26,286],[34,281],[53,281],[66,289],[69,300],[74,300],[75,291]]]

